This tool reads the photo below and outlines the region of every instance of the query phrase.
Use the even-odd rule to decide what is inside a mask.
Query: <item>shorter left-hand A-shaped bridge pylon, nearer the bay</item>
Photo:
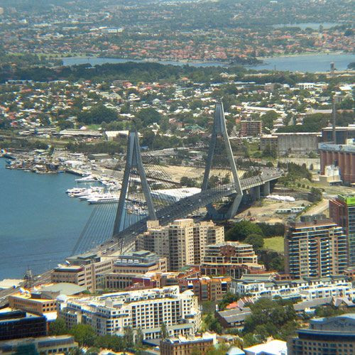
[[[151,189],[148,185],[146,170],[144,170],[142,157],[141,157],[141,147],[139,146],[138,133],[136,131],[129,132],[129,140],[127,143],[127,155],[126,155],[126,167],[124,169],[124,178],[122,180],[121,193],[119,195],[119,206],[116,211],[116,218],[114,220],[114,230],[112,236],[116,236],[121,231],[124,226],[121,225],[124,221],[126,215],[125,207],[127,200],[127,193],[129,192],[129,178],[131,173],[137,175],[141,179],[143,195],[146,199],[146,204],[148,207],[148,217],[151,220],[157,219],[155,214],[155,209],[153,205],[153,198],[151,195]]]

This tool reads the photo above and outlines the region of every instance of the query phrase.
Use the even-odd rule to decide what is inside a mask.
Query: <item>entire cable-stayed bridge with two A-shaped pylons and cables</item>
[[[155,152],[142,152],[138,133],[131,131],[124,174],[115,171],[112,177],[121,178],[118,205],[102,204],[94,209],[72,253],[97,246],[106,249],[110,244],[128,251],[136,236],[146,231],[148,221],[158,220],[160,225],[166,225],[202,207],[206,207],[211,219],[233,218],[243,198],[258,200],[269,195],[282,174],[265,167],[244,167],[244,173],[237,170],[220,102],[216,104],[212,133],[206,143],[206,154],[192,159],[186,167],[178,165],[179,150],[171,150],[176,164],[171,166]]]

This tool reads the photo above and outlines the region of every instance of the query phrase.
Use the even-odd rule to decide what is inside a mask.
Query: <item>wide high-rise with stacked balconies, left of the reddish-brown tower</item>
[[[312,218],[316,218],[312,216]],[[347,267],[347,239],[331,219],[293,222],[285,235],[285,273],[291,278],[340,275]]]

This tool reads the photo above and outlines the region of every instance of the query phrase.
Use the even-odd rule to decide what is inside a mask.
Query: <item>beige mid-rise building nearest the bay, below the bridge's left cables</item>
[[[53,283],[75,283],[96,290],[97,275],[112,270],[115,258],[113,256],[97,256],[96,253],[86,253],[67,258],[66,265],[53,269]]]

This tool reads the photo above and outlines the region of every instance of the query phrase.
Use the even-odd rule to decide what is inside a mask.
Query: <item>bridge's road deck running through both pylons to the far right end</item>
[[[241,179],[241,188],[243,190],[249,190],[252,187],[261,186],[266,182],[277,180],[281,175],[281,170],[263,169],[260,175]],[[207,204],[212,204],[213,202],[222,199],[222,197],[233,195],[235,193],[236,190],[234,188],[234,184],[214,187],[209,190],[201,191],[195,195],[185,197],[167,207],[163,207],[156,212],[156,216],[159,220],[159,224],[164,226],[175,221],[175,219],[186,217],[187,214],[194,212],[196,209],[205,207]],[[136,239],[136,236],[146,231],[146,224],[148,220],[149,217],[145,217],[114,236],[114,239],[116,239],[119,244],[119,249],[121,249],[121,251],[130,249]],[[112,243],[113,241],[114,240],[111,240],[110,242]],[[105,245],[106,244],[104,244],[104,246]]]

